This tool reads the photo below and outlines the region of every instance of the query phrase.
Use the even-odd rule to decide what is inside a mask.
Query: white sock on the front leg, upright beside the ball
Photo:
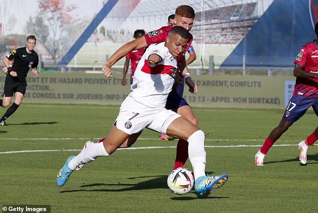
[[[205,175],[206,152],[204,150],[204,132],[198,130],[188,138],[189,160],[192,164],[195,180]]]

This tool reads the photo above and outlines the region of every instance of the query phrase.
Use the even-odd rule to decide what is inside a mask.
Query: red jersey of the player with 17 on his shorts
[[[318,46],[314,41],[304,45],[294,64],[304,67],[304,71],[308,73],[318,73]],[[318,98],[318,79],[316,78],[296,78],[295,90],[292,96],[301,98]]]

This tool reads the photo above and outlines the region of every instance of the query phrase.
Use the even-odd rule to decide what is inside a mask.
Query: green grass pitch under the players
[[[306,166],[298,161],[296,144],[316,127],[308,111],[275,143],[264,166],[254,165],[254,154],[281,119],[283,110],[195,108],[206,134],[210,175],[226,173],[228,182],[207,196],[194,190],[172,193],[167,177],[173,168],[177,141],[162,141],[144,130],[133,147],[97,158],[74,171],[58,187],[55,177],[70,155],[88,139],[104,137],[119,107],[97,105],[23,104],[0,127],[0,204],[51,205],[51,212],[316,212],[318,147],[308,149]],[[2,111],[4,113],[4,110]],[[50,139],[51,138],[51,139]],[[60,139],[59,139],[60,138]],[[245,147],[211,147],[251,145]],[[252,146],[255,145],[255,146]],[[257,146],[258,145],[258,146]],[[60,151],[59,151],[60,150]],[[64,150],[64,151],[63,151]],[[192,169],[189,162],[186,166]]]

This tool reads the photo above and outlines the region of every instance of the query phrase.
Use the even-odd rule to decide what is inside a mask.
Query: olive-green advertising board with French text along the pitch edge
[[[129,94],[122,76],[105,78],[100,74],[41,73],[28,77],[26,103],[120,105]],[[5,77],[0,77],[0,91]],[[284,108],[292,94],[292,77],[195,76],[199,93],[185,87],[184,98],[193,107]],[[3,92],[0,92],[3,95]]]

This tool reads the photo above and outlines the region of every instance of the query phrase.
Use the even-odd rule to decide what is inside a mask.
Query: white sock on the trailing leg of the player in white
[[[106,152],[103,143],[92,143],[89,146],[87,146],[87,148],[84,149],[84,151],[82,151],[76,157],[74,157],[68,163],[68,167],[74,170],[77,168],[77,166],[93,161],[98,156],[108,155],[109,154]]]

